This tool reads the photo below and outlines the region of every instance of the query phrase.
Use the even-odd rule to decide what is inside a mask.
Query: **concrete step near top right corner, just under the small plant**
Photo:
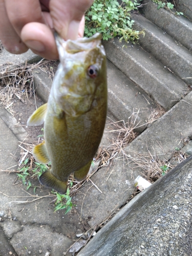
[[[187,49],[192,50],[192,23],[187,18],[177,16],[163,8],[157,10],[158,4],[152,0],[143,0],[141,13],[164,32],[174,37]]]

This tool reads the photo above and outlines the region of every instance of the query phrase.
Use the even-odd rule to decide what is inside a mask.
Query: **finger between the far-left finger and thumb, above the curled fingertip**
[[[38,0],[5,0],[5,5],[10,23],[19,36],[27,23],[45,23]]]

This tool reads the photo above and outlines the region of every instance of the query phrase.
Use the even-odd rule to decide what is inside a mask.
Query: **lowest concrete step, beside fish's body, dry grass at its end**
[[[141,133],[157,107],[150,96],[108,61],[108,110],[117,120],[135,122],[135,131]]]

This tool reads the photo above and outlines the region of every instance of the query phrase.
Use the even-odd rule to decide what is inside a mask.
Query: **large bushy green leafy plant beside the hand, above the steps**
[[[95,0],[86,12],[84,34],[89,37],[99,32],[103,40],[119,36],[120,41],[135,43],[140,34],[144,35],[143,31],[132,29],[134,20],[130,18],[130,11],[137,9],[137,5],[136,0],[123,0],[121,5],[116,0]]]

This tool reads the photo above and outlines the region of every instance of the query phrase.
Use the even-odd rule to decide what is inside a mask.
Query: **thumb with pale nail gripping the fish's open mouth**
[[[80,21],[93,0],[50,0],[50,14],[55,30],[64,39],[76,39]]]

